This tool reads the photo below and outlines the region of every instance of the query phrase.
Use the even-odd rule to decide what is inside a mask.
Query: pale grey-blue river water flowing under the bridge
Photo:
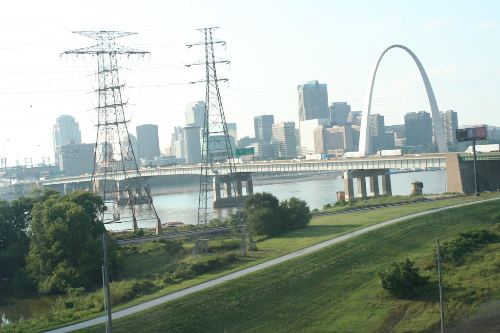
[[[321,209],[323,205],[336,201],[336,192],[344,190],[344,180],[330,176],[320,180],[306,180],[296,178],[292,183],[272,185],[258,185],[258,180],[253,183],[253,192],[270,192],[279,200],[297,197],[307,201],[309,208]],[[304,181],[302,181],[304,180]],[[440,194],[445,192],[446,170],[399,172],[390,175],[392,194],[409,195],[411,183],[415,180],[423,183],[423,192]],[[379,185],[381,189],[381,184]],[[369,192],[369,182],[366,182],[366,191]],[[354,183],[354,193],[357,196],[357,185]],[[187,224],[196,224],[198,214],[198,192],[154,195],[153,203],[161,222],[179,221]],[[225,214],[223,214],[225,215]],[[154,222],[137,221],[139,228],[155,227]],[[108,224],[109,230],[130,229],[124,223]]]

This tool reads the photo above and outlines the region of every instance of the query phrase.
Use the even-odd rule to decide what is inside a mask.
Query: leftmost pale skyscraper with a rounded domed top
[[[69,144],[70,140],[72,140],[74,144],[81,144],[81,132],[74,118],[70,115],[63,114],[55,119],[52,132],[54,161],[59,168],[60,146]]]

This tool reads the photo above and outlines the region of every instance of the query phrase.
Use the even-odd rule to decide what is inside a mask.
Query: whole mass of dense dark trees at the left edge
[[[0,276],[42,292],[88,289],[101,282],[105,206],[92,193],[34,189],[0,202]],[[110,260],[116,262],[111,248]]]

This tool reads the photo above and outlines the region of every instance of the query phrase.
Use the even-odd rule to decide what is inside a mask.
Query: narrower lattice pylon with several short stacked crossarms
[[[198,203],[198,221],[197,221],[197,241],[194,247],[194,254],[207,251],[206,237],[204,229],[207,223],[220,218],[213,209],[213,203],[217,198],[232,198],[233,207],[242,208],[242,200],[238,193],[238,182],[236,168],[234,166],[233,153],[227,132],[224,110],[220,99],[219,81],[227,81],[226,78],[217,77],[216,64],[228,64],[228,60],[215,58],[213,53],[213,44],[225,45],[222,40],[212,39],[212,32],[218,27],[197,29],[204,34],[204,39],[187,45],[205,46],[205,59],[194,64],[187,65],[205,65],[206,77],[190,83],[206,82],[205,94],[205,115],[203,125],[203,144],[201,153],[201,171],[199,182],[199,203]],[[238,213],[238,221],[241,230],[241,252],[246,254],[244,243],[246,219],[244,212]],[[253,241],[249,236],[250,249],[253,247]]]

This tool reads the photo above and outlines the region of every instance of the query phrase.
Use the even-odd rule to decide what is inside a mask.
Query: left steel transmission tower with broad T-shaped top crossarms
[[[97,41],[94,46],[64,51],[62,54],[97,55],[98,97],[97,139],[95,142],[92,191],[106,203],[108,210],[101,216],[103,223],[156,220],[156,234],[161,224],[152,204],[145,179],[140,177],[125,119],[125,105],[121,95],[124,84],[119,83],[117,56],[131,54],[144,56],[147,51],[137,50],[114,42],[115,38],[135,34],[122,31],[73,31]]]

